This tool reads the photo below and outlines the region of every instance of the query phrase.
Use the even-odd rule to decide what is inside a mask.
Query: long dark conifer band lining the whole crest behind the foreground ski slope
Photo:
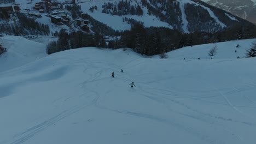
[[[78,47],[97,46],[112,49],[129,47],[142,55],[152,56],[179,49],[184,46],[218,43],[235,39],[255,38],[256,26],[235,26],[234,28],[225,29],[225,31],[217,33],[182,33],[178,30],[165,27],[145,28],[140,23],[136,23],[134,26],[132,26],[130,31],[121,32],[120,39],[111,40],[109,41],[108,45],[105,43],[103,35],[99,33],[94,35],[85,34],[83,32],[71,33],[69,35],[66,34],[67,37],[65,40],[63,40],[64,38],[62,38],[62,35],[59,35],[59,41],[56,43],[59,43],[60,46],[55,46],[59,48],[48,52],[49,54],[67,49],[75,49]],[[65,44],[61,45],[61,41],[65,41]],[[67,47],[67,45],[69,45],[69,47]]]

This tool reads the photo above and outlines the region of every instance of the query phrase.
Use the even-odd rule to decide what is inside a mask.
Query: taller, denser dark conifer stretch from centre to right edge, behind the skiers
[[[179,49],[184,46],[193,46],[208,43],[218,43],[235,39],[249,39],[256,37],[256,26],[225,29],[217,33],[194,32],[181,33],[165,27],[144,28],[137,24],[131,31],[124,31],[121,38],[110,41],[113,48],[129,47],[143,55],[156,55],[163,52]]]

